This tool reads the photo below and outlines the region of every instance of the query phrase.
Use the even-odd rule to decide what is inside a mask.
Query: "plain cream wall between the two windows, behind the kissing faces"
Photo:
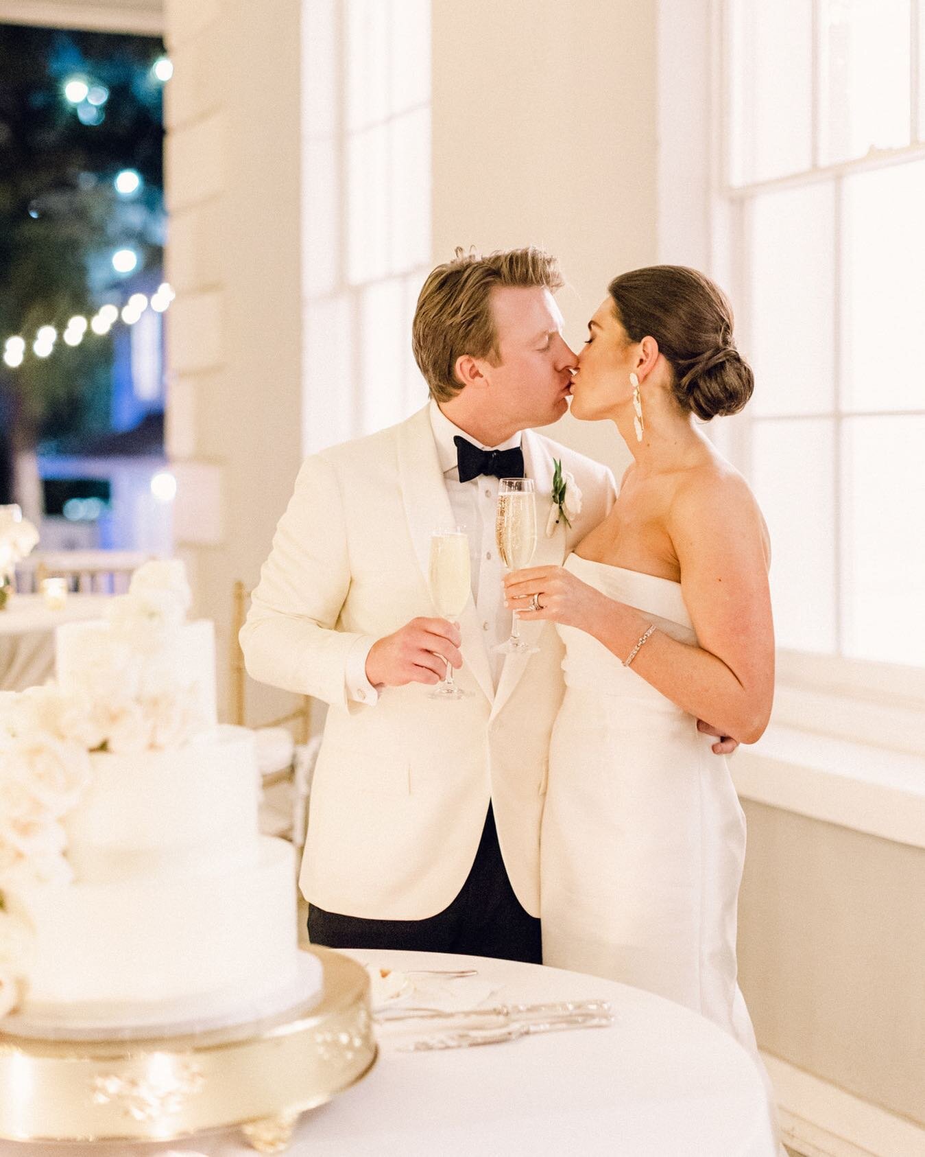
[[[434,5],[432,251],[541,244],[568,285],[567,339],[624,270],[657,257],[656,3]],[[549,433],[622,473],[609,423]]]

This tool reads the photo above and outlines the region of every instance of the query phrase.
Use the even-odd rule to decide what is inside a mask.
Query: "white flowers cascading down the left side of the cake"
[[[92,756],[182,746],[202,730],[194,683],[178,683],[171,643],[190,605],[182,563],[147,563],[113,599],[116,639],[88,644],[80,691],[54,684],[0,692],[0,1017],[22,1000],[32,933],[17,889],[67,884],[64,819]]]

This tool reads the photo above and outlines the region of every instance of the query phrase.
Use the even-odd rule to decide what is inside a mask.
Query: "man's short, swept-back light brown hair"
[[[555,257],[528,245],[489,253],[457,248],[453,259],[438,265],[424,281],[412,323],[412,348],[430,395],[449,401],[462,389],[456,376],[465,354],[498,358],[498,336],[491,316],[491,290],[498,286],[555,293],[563,286]]]

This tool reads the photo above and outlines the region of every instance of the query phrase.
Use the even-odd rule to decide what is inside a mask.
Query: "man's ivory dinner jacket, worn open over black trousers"
[[[605,466],[525,430],[535,481],[533,566],[561,563],[615,498]],[[545,535],[553,458],[583,493],[571,529]],[[539,914],[539,837],[549,734],[563,694],[552,622],[524,622],[533,655],[508,655],[495,691],[472,597],[460,616],[466,698],[428,698],[413,683],[371,706],[346,691],[361,635],[382,638],[436,616],[428,590],[431,532],[452,523],[428,407],[369,437],[308,458],[276,528],[240,643],[250,675],[330,703],[312,784],[299,885],[330,912],[421,920],[465,883],[489,799],[520,904]]]

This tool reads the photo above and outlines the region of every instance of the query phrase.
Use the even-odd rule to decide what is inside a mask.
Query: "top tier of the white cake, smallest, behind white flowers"
[[[54,635],[56,678],[62,691],[119,692],[139,673],[142,680],[150,675],[158,685],[191,687],[202,725],[215,724],[215,627],[208,619],[177,627],[149,651],[130,647],[102,619],[64,622]]]

